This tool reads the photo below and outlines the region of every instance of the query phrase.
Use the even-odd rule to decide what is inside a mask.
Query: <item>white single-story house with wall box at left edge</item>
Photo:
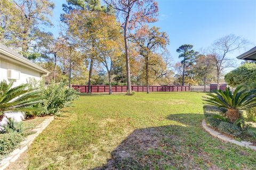
[[[50,72],[0,44],[0,81],[13,82],[13,86],[29,83],[31,79],[41,80]]]

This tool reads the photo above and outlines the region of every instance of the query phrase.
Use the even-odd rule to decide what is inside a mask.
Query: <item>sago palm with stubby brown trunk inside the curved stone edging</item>
[[[231,123],[239,119],[239,110],[248,110],[256,106],[256,90],[242,90],[242,86],[237,87],[233,94],[230,88],[226,87],[224,92],[218,90],[207,95],[203,97],[207,104],[227,108],[226,117]]]

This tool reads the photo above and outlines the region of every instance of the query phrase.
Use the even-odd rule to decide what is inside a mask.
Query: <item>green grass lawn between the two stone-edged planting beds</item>
[[[203,93],[82,95],[33,142],[28,169],[255,169],[201,126]]]

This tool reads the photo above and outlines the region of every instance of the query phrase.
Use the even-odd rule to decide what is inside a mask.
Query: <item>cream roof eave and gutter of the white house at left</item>
[[[18,54],[17,52],[13,51],[11,48],[8,48],[3,44],[0,44],[0,58],[29,67],[30,69],[36,70],[42,74],[50,73],[49,71],[37,66],[37,64],[35,64],[34,62],[26,59],[22,55]]]

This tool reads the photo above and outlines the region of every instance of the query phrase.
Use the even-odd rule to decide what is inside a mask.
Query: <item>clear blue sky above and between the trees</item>
[[[61,5],[65,0],[53,0],[55,9],[49,30],[59,32]],[[251,44],[234,52],[230,58],[250,50],[256,45],[256,1],[168,1],[158,2],[159,17],[154,26],[161,27],[170,38],[167,47],[174,62],[179,61],[176,49],[182,44],[192,44],[195,50],[211,46],[224,35],[235,34],[247,38]],[[236,60],[236,59],[235,59]],[[237,63],[241,61],[237,60]]]

